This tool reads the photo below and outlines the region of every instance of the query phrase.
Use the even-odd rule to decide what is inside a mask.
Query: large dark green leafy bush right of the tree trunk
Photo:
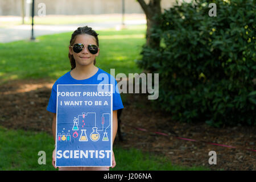
[[[173,119],[212,126],[255,125],[255,1],[212,0],[175,5],[156,15],[152,36],[159,48],[143,46],[139,67],[159,73],[156,108]],[[155,104],[157,102],[157,104]]]

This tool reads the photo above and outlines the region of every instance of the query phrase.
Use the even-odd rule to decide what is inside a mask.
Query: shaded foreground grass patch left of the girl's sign
[[[0,127],[0,136],[0,170],[51,170],[53,137],[46,133],[3,127]],[[39,151],[46,152],[47,165],[38,164]]]

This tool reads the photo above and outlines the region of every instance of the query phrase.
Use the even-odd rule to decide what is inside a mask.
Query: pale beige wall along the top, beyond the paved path
[[[25,2],[27,0],[24,0]],[[31,0],[32,1],[32,0]],[[148,2],[148,0],[146,0]],[[163,9],[172,6],[175,0],[162,0]],[[35,12],[38,4],[46,4],[46,14],[112,14],[122,13],[122,0],[35,0]],[[20,16],[22,0],[0,0],[0,16]],[[125,0],[125,13],[144,13],[136,0]]]

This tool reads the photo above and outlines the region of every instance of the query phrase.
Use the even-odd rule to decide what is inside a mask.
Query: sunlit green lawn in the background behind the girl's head
[[[146,26],[129,26],[126,30],[97,31],[100,54],[96,66],[110,73],[140,73],[135,59],[141,56]],[[68,46],[72,32],[39,36],[36,42],[26,40],[0,43],[0,80],[51,78],[56,80],[70,70]]]

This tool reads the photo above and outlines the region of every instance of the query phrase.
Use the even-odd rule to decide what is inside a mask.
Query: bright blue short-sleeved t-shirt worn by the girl
[[[56,101],[57,101],[57,84],[113,84],[113,110],[123,108],[121,96],[118,90],[117,81],[109,73],[98,68],[95,75],[85,80],[76,80],[70,75],[70,72],[61,76],[52,86],[51,97],[49,98],[47,110],[56,113]]]

